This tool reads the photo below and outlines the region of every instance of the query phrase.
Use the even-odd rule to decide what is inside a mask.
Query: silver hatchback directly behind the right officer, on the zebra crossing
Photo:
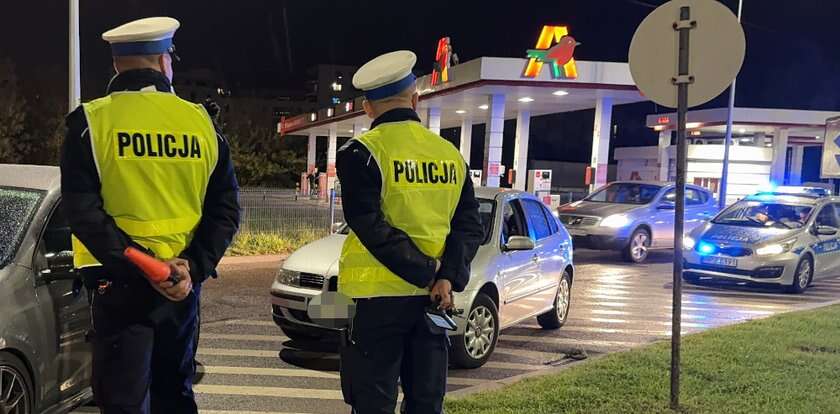
[[[499,330],[537,317],[545,329],[565,322],[574,276],[572,242],[551,211],[533,195],[477,188],[486,238],[472,261],[470,281],[455,294],[465,310],[456,317],[452,362],[464,368],[483,365]],[[275,323],[292,340],[336,335],[308,316],[310,302],[335,291],[338,258],[347,229],[302,247],[283,263],[271,286]]]

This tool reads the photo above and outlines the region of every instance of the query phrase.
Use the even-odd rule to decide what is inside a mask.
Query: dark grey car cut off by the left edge
[[[91,399],[87,293],[73,273],[59,170],[0,164],[0,413]]]

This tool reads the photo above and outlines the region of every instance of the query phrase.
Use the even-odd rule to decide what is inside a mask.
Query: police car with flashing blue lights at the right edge
[[[683,279],[734,279],[804,292],[840,272],[840,198],[757,194],[683,239]]]

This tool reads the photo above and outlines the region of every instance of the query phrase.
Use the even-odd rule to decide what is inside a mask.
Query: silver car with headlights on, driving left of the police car
[[[560,221],[575,247],[618,250],[625,260],[641,263],[650,249],[674,248],[673,183],[626,181],[608,184],[581,201],[559,208]],[[685,230],[717,213],[705,188],[685,188]]]

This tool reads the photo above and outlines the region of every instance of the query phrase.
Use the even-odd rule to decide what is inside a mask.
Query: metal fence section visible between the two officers
[[[294,189],[242,188],[241,233],[327,235],[333,222],[344,221],[339,203],[298,196]],[[334,217],[334,219],[333,219]]]

